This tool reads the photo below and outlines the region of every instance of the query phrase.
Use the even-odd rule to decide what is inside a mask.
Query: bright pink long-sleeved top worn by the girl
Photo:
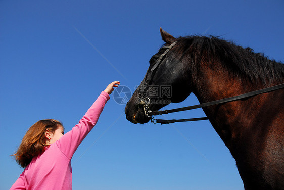
[[[71,158],[109,99],[109,94],[103,91],[71,131],[32,159],[11,189],[72,189]]]

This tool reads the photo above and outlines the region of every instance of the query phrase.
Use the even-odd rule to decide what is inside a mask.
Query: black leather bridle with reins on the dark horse
[[[165,52],[163,54],[161,54],[161,56],[158,58],[158,60],[156,61],[155,65],[151,69],[148,68],[147,73],[146,73],[145,82],[144,82],[144,87],[145,88],[143,89],[142,92],[146,92],[147,91],[147,88],[148,88],[149,84],[152,83],[152,80],[153,80],[154,74],[156,72],[156,69],[162,63],[162,61],[166,57],[166,55],[169,52],[169,50],[175,44],[176,44],[176,42],[173,42],[171,45],[164,46],[163,48],[166,48]],[[166,120],[166,119],[154,119],[153,116],[169,114],[169,113],[173,113],[173,112],[180,112],[180,111],[185,111],[185,110],[193,110],[193,109],[197,109],[197,108],[204,108],[204,107],[207,107],[207,106],[223,104],[223,103],[232,102],[232,101],[236,101],[236,100],[242,100],[242,99],[245,99],[245,98],[256,96],[258,94],[271,92],[271,91],[274,91],[274,90],[277,90],[277,89],[281,89],[281,88],[284,88],[284,83],[276,85],[276,86],[260,89],[260,90],[251,91],[251,92],[244,93],[244,94],[241,94],[241,95],[238,95],[238,96],[234,96],[234,97],[229,97],[229,98],[224,98],[224,99],[220,99],[220,100],[215,100],[215,101],[202,103],[202,104],[198,104],[198,105],[194,105],[194,106],[187,106],[187,107],[176,108],[176,109],[171,109],[171,110],[162,110],[162,111],[151,111],[151,109],[149,107],[151,99],[148,98],[148,97],[142,98],[141,97],[141,93],[139,93],[139,103],[138,103],[138,106],[142,106],[143,107],[144,114],[146,116],[148,116],[148,117],[151,117],[151,122],[154,123],[154,124],[160,123],[162,125],[162,124],[169,124],[169,123],[175,123],[175,122],[184,122],[184,121],[200,121],[200,120],[207,120],[208,118],[207,117],[199,117],[199,118],[189,118],[189,119],[170,119],[170,120]]]

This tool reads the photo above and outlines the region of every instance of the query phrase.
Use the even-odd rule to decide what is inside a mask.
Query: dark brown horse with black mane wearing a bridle
[[[169,86],[171,94],[152,96],[151,111],[190,93],[206,103],[284,82],[284,65],[251,48],[214,36],[175,38],[161,28],[160,33],[165,44],[125,107],[132,123],[150,121],[141,100],[155,92],[153,87]],[[283,108],[283,89],[202,108],[235,159],[246,190],[284,189]]]

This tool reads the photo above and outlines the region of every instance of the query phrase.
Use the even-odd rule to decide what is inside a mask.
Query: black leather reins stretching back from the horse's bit
[[[150,104],[150,99],[149,98],[145,98],[147,99],[146,104],[143,105],[144,108],[144,113],[146,116],[151,117],[151,122],[156,124],[156,123],[160,123],[162,124],[169,124],[169,123],[175,123],[175,122],[184,122],[184,121],[200,121],[200,120],[207,120],[207,117],[199,117],[199,118],[190,118],[190,119],[154,119],[154,115],[163,115],[163,114],[169,114],[169,113],[173,113],[173,112],[181,112],[181,111],[185,111],[185,110],[193,110],[193,109],[197,109],[197,108],[203,108],[203,107],[207,107],[207,106],[212,106],[212,105],[216,105],[216,104],[223,104],[223,103],[227,103],[227,102],[232,102],[232,101],[236,101],[236,100],[241,100],[244,98],[249,98],[249,97],[253,97],[256,96],[258,94],[262,94],[262,93],[266,93],[266,92],[271,92],[277,89],[281,89],[284,88],[284,83],[276,85],[276,86],[271,86],[268,88],[264,88],[264,89],[260,89],[260,90],[255,90],[255,91],[251,91],[248,93],[244,93],[238,96],[234,96],[234,97],[229,97],[229,98],[224,98],[224,99],[220,99],[220,100],[215,100],[215,101],[211,101],[211,102],[207,102],[207,103],[202,103],[202,104],[198,104],[198,105],[194,105],[194,106],[187,106],[187,107],[182,107],[182,108],[176,108],[176,109],[171,109],[171,110],[162,110],[162,111],[148,111],[150,110],[149,108],[149,104]]]

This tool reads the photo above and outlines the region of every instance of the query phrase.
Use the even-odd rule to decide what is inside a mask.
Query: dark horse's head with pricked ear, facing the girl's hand
[[[132,123],[147,123],[150,120],[147,112],[171,102],[182,102],[191,93],[191,84],[186,82],[188,66],[178,51],[177,39],[161,28],[160,33],[166,43],[151,57],[144,79],[125,107],[126,118]]]

